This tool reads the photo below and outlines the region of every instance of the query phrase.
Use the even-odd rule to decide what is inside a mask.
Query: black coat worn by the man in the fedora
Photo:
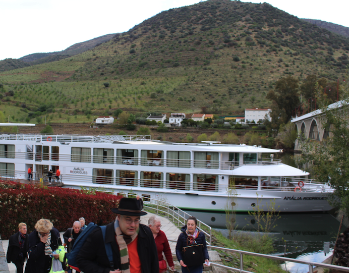
[[[105,242],[111,242],[114,269],[116,270],[121,267],[121,259],[119,246],[115,239],[114,222],[106,226]],[[151,230],[142,224],[139,225],[137,249],[142,273],[158,273],[159,262],[154,237]],[[85,273],[109,273],[109,260],[100,229],[94,230],[87,237],[76,261],[80,270]]]

